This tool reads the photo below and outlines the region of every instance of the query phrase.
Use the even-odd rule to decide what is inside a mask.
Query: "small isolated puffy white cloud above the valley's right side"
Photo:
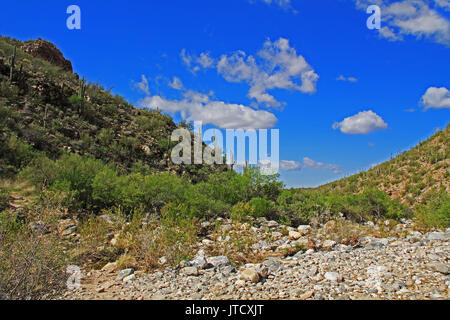
[[[342,133],[346,134],[367,134],[387,129],[387,127],[387,123],[372,110],[361,111],[354,116],[333,124],[333,129],[340,129]]]

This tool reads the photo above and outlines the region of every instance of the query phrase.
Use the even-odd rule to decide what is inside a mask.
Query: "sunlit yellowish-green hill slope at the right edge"
[[[450,193],[450,124],[411,150],[320,189],[359,193],[369,187],[410,206],[424,202],[428,194],[441,188]]]

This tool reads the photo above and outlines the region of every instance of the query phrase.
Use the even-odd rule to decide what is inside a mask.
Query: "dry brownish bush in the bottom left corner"
[[[15,216],[0,213],[0,296],[11,300],[57,297],[67,279],[65,266],[55,236],[32,233]]]

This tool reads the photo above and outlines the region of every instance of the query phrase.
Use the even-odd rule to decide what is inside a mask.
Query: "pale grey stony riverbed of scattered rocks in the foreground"
[[[211,248],[198,243],[198,252],[191,261],[177,267],[161,265],[159,271],[124,275],[120,281],[112,275],[116,263],[102,270],[83,270],[82,289],[67,291],[62,299],[443,299],[448,300],[448,233],[421,234],[414,225],[402,222],[399,237],[360,237],[360,246],[337,243],[333,234],[323,229],[307,237],[288,239],[281,230],[298,232],[284,226],[268,228],[268,221],[254,220],[240,228],[229,219],[233,232],[251,230],[255,243],[250,253],[262,258],[262,263],[248,263],[239,273],[226,256],[208,257]],[[382,223],[382,222],[381,222]],[[280,228],[280,229],[278,229]],[[307,226],[305,229],[309,229]],[[300,228],[302,229],[302,228]],[[388,231],[395,234],[395,228]],[[437,233],[438,235],[436,236]],[[406,238],[403,234],[409,234]],[[275,235],[277,235],[275,233]],[[331,236],[331,237],[330,237]],[[213,234],[205,234],[218,245]],[[108,237],[110,239],[111,237]],[[330,238],[330,239],[327,239]],[[442,240],[431,240],[431,239]],[[332,239],[332,240],[331,240]],[[223,241],[226,237],[223,236]],[[310,243],[308,243],[308,240]],[[221,245],[228,245],[221,243]],[[297,252],[299,247],[311,248]],[[317,250],[317,249],[325,249]],[[271,251],[271,249],[276,249]],[[214,251],[213,251],[214,252]],[[243,255],[247,252],[242,252]],[[288,254],[288,255],[286,255]],[[207,265],[205,266],[205,260]],[[236,262],[236,261],[235,261]],[[205,266],[205,267],[204,267]],[[122,270],[123,271],[123,270]],[[121,272],[122,272],[121,271]],[[345,280],[345,281],[344,281]]]

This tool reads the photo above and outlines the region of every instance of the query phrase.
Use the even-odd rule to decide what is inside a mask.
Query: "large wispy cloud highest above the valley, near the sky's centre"
[[[184,50],[181,56],[185,64],[194,72],[200,68],[217,68],[217,72],[229,82],[247,83],[250,87],[248,97],[267,107],[280,107],[268,91],[273,89],[296,90],[303,93],[316,92],[319,76],[297,54],[289,44],[289,40],[280,38],[277,41],[267,40],[257,57],[247,55],[244,51],[236,51],[230,55],[222,55],[217,62],[209,55],[203,57],[204,64],[198,58],[189,56]],[[193,61],[196,60],[197,64]]]

